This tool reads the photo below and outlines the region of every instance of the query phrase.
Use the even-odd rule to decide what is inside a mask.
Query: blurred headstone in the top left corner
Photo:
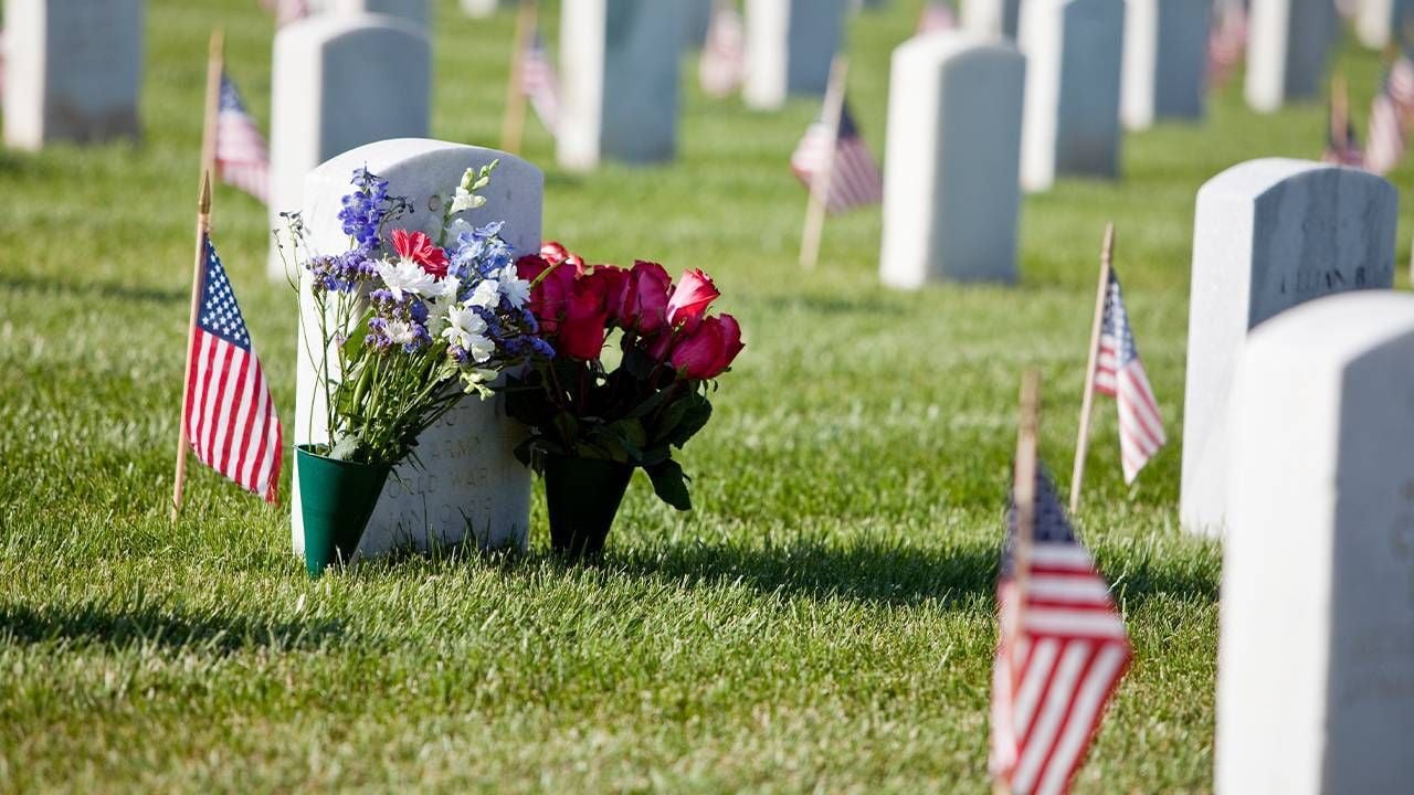
[[[141,0],[6,0],[4,141],[137,137]]]

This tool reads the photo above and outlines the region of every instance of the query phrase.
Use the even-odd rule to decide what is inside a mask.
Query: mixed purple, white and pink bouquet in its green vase
[[[506,371],[553,355],[526,303],[501,224],[461,218],[485,199],[495,163],[467,170],[437,239],[397,226],[410,205],[387,181],[354,173],[338,214],[348,249],[312,252],[291,216],[296,262],[314,303],[327,440],[297,448],[304,555],[311,576],[348,560],[387,474],[417,463],[417,437],[465,395],[486,396]],[[451,236],[452,242],[447,243]],[[315,400],[311,412],[318,410]],[[317,427],[311,417],[311,427]]]

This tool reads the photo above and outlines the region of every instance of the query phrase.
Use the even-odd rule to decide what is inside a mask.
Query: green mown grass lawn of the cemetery
[[[267,124],[259,4],[153,0],[141,144],[0,151],[0,789],[986,791],[1017,386],[1042,368],[1041,448],[1066,488],[1110,219],[1172,441],[1127,488],[1100,399],[1076,523],[1135,662],[1077,789],[1210,788],[1220,550],[1178,529],[1193,197],[1243,160],[1318,157],[1322,103],[1257,116],[1239,75],[1205,124],[1127,136],[1124,181],[1028,197],[1019,286],[919,293],[878,286],[878,209],[831,219],[819,270],[797,269],[786,158],[813,100],[752,113],[689,68],[679,161],[588,175],[554,168],[532,120],[547,236],[701,267],[741,318],[748,348],[682,458],[697,509],[638,475],[600,564],[546,556],[537,495],[526,556],[311,583],[288,502],[194,467],[168,522],[214,8]],[[916,11],[851,25],[875,153]],[[510,27],[437,4],[436,137],[495,146]],[[1339,68],[1367,108],[1377,57],[1348,42]],[[218,188],[214,239],[288,439],[296,301],[264,279],[266,233]]]

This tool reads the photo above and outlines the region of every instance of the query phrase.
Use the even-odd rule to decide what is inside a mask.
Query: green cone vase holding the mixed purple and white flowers
[[[304,567],[312,580],[331,563],[354,557],[393,467],[335,461],[308,444],[296,447],[294,454],[300,460]]]

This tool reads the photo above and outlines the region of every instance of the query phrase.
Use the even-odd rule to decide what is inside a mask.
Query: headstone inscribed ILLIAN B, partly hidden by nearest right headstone
[[[1253,160],[1198,191],[1184,398],[1184,528],[1227,508],[1229,402],[1247,332],[1299,303],[1394,282],[1394,187],[1366,171]]]

